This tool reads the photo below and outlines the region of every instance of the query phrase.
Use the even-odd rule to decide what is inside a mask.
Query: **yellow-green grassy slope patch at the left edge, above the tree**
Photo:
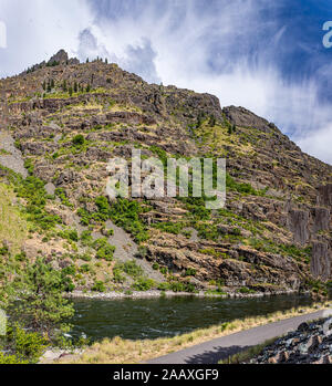
[[[12,246],[12,252],[19,252],[27,239],[27,222],[20,216],[19,209],[12,205],[13,191],[0,184],[0,244],[7,240]]]

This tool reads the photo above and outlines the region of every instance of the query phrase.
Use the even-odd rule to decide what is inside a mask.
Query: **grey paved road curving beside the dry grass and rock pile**
[[[155,359],[148,364],[217,364],[219,361],[240,351],[247,350],[297,330],[302,322],[312,321],[323,316],[323,311],[313,312],[250,328],[228,336],[218,337],[196,346],[181,350]]]

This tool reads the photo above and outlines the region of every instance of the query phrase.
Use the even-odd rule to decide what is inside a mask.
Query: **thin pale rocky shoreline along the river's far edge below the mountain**
[[[263,296],[277,296],[277,295],[292,295],[298,294],[299,291],[274,291],[274,292],[255,292],[255,293],[240,293],[240,292],[227,292],[216,293],[212,291],[199,291],[199,292],[173,292],[173,291],[129,291],[129,292],[83,292],[73,291],[65,294],[72,299],[100,299],[100,300],[116,300],[116,299],[157,299],[157,298],[174,298],[174,296],[196,296],[196,298],[221,298],[221,299],[246,299],[246,298],[263,298]],[[310,292],[302,292],[301,294],[309,294]]]

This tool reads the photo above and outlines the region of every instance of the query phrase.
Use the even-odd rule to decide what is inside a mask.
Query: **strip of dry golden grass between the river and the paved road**
[[[56,363],[61,364],[136,364],[151,358],[166,355],[196,344],[249,330],[267,323],[281,321],[303,313],[314,312],[326,307],[328,304],[318,303],[311,307],[292,309],[286,312],[276,312],[267,316],[247,317],[230,323],[201,328],[170,338],[128,341],[121,337],[104,340],[86,348],[81,356],[64,357]],[[301,310],[301,312],[300,312]]]

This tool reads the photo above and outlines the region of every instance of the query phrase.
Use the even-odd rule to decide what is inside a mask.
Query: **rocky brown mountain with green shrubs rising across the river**
[[[29,230],[19,244],[0,232],[3,255],[43,255],[71,275],[69,290],[325,293],[332,167],[274,124],[64,51],[0,80],[0,184]],[[226,158],[226,207],[108,201],[107,160],[131,159],[133,147],[162,160]]]

